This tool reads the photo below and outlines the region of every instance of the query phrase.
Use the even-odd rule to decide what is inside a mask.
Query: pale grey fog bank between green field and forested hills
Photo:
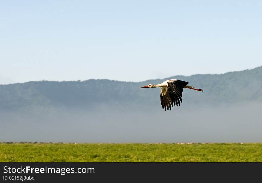
[[[262,104],[162,111],[96,106],[45,113],[1,112],[1,141],[77,143],[262,142]],[[36,109],[39,111],[39,109]]]

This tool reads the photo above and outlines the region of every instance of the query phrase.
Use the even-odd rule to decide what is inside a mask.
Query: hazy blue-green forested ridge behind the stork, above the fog
[[[167,79],[188,81],[183,91],[182,105],[243,105],[262,102],[262,66],[251,70],[225,74],[197,74],[143,82],[121,82],[107,79],[86,81],[30,81],[0,85],[0,111],[30,110],[36,107],[93,108],[97,105],[132,108],[160,105],[160,89],[139,89],[149,83],[158,84]]]

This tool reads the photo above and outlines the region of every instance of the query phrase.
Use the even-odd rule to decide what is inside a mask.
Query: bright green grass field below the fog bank
[[[0,143],[0,162],[262,162],[262,143]]]

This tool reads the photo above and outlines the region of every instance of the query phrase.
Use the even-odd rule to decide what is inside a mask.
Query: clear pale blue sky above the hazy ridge
[[[262,1],[1,1],[0,79],[144,81],[252,69],[262,65],[261,10]]]

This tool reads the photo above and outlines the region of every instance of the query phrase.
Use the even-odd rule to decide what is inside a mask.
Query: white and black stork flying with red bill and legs
[[[182,103],[182,92],[183,88],[188,88],[192,90],[197,90],[203,92],[202,89],[195,89],[193,86],[188,86],[188,82],[186,81],[181,81],[178,79],[169,79],[164,81],[161,84],[149,84],[146,86],[142,86],[140,88],[156,88],[156,87],[161,87],[161,93],[160,93],[160,101],[162,108],[165,108],[165,111],[171,110],[171,105],[172,107],[174,106],[180,106],[180,102]],[[174,106],[173,106],[174,104]]]

